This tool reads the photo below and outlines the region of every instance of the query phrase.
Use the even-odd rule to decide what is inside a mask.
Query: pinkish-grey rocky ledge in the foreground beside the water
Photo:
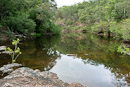
[[[68,84],[52,72],[18,68],[0,80],[0,87],[86,87],[79,83]]]

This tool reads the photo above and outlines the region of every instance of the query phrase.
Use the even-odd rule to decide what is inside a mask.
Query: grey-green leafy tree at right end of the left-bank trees
[[[43,9],[44,8],[44,9]],[[53,23],[50,18],[53,17],[52,13],[47,7],[38,7],[30,10],[30,16],[36,23],[36,33],[43,34],[60,34],[60,27]]]

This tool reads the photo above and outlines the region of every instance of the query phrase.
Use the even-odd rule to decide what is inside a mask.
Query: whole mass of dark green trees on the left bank
[[[11,34],[59,34],[54,0],[0,0],[0,30]],[[9,34],[10,34],[9,33]]]

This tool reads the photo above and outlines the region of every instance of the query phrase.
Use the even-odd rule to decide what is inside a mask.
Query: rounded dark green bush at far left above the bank
[[[21,33],[24,35],[34,32],[35,22],[28,18],[27,14],[22,13],[17,16],[10,16],[3,21],[3,26],[8,26],[12,32]]]

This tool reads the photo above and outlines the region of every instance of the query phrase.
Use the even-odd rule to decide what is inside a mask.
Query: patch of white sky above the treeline
[[[86,0],[55,0],[55,1],[57,2],[58,7],[62,7],[62,6],[68,6],[79,2],[83,2]]]

